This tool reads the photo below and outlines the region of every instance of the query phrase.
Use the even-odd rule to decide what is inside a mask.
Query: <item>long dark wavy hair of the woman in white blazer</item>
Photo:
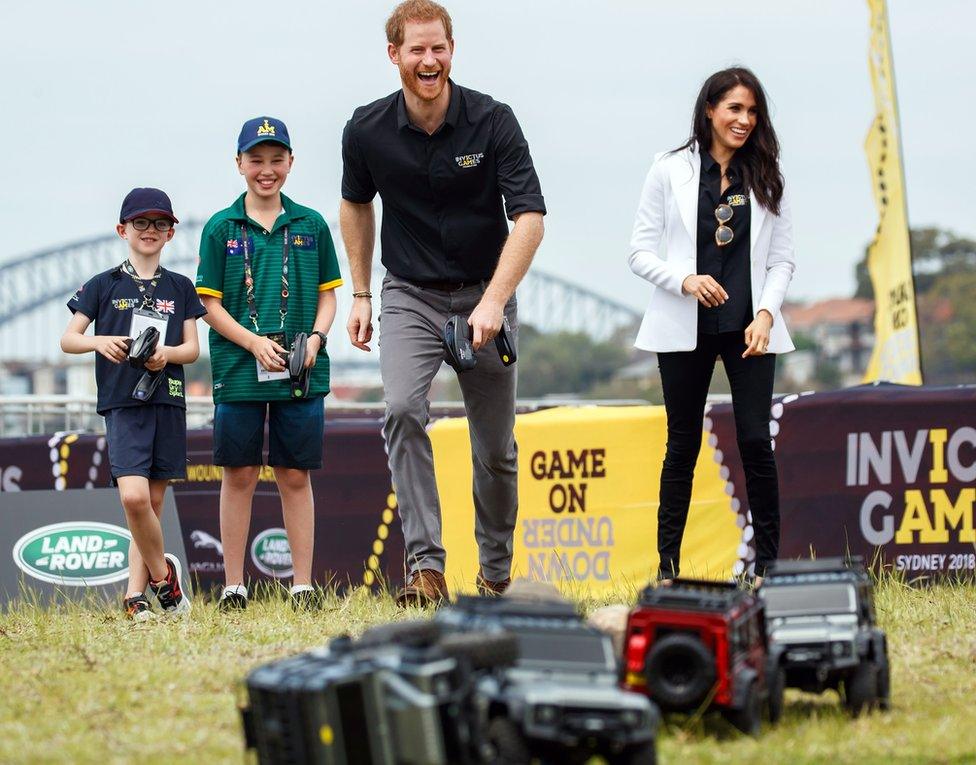
[[[737,85],[752,91],[756,99],[756,127],[749,134],[741,149],[735,152],[742,171],[745,190],[752,191],[756,199],[774,215],[779,215],[779,203],[783,198],[783,174],[779,170],[779,141],[773,123],[769,119],[766,91],[751,71],[744,67],[732,67],[716,72],[702,85],[695,101],[695,114],[691,120],[691,137],[675,151],[689,149],[697,144],[704,149],[712,146],[712,122],[705,107],[713,109]]]

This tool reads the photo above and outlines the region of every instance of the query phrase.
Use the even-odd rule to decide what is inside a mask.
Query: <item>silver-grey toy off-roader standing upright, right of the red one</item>
[[[862,558],[776,561],[759,593],[789,687],[843,689],[855,717],[875,705],[889,708],[888,641]]]

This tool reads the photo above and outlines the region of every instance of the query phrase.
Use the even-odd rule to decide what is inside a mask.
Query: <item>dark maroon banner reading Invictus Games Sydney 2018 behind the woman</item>
[[[748,507],[730,405],[709,412]],[[770,412],[784,557],[864,555],[909,580],[976,572],[976,387],[869,385]]]

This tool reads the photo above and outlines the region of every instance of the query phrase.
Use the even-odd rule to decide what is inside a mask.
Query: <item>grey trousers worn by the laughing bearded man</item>
[[[441,507],[427,425],[430,385],[445,360],[444,324],[467,316],[484,286],[456,292],[418,287],[387,274],[380,306],[380,371],[386,401],[383,438],[396,491],[406,567],[444,572]],[[513,297],[505,315],[517,342]],[[488,343],[477,366],[458,375],[471,436],[475,538],[486,579],[500,581],[512,566],[512,535],[518,513],[518,447],[515,444],[517,364],[505,367]]]

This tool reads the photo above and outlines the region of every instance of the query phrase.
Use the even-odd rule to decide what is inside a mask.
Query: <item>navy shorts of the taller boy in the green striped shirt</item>
[[[296,470],[322,467],[325,402],[232,401],[214,410],[214,464],[263,465],[264,423],[268,422],[268,464]]]

